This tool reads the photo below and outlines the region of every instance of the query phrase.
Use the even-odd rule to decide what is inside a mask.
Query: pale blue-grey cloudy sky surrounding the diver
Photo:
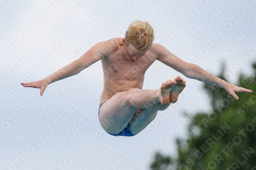
[[[249,75],[255,61],[254,1],[9,0],[0,8],[2,169],[146,170],[154,152],[174,155],[175,138],[187,135],[183,113],[209,111],[209,98],[203,83],[159,61],[145,72],[144,89],[178,75],[187,86],[176,104],[133,137],[113,137],[99,124],[100,61],[49,85],[43,96],[19,85],[51,75],[99,41],[124,36],[135,19],[154,27],[155,43],[214,75],[225,61],[230,83],[241,71]]]

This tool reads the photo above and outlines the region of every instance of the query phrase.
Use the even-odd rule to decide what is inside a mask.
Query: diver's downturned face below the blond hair
[[[146,53],[146,51],[137,50],[137,48],[132,44],[130,44],[129,46],[126,46],[125,43],[124,43],[123,52],[126,58],[131,62],[137,61],[138,58],[142,57]]]

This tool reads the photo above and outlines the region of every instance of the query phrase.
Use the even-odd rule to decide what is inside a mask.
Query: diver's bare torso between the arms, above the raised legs
[[[130,61],[123,53],[124,44],[122,38],[113,38],[113,52],[101,59],[104,87],[100,97],[100,105],[112,98],[121,91],[128,91],[132,88],[142,89],[145,71],[156,60],[153,52],[153,43],[150,50],[137,61]]]

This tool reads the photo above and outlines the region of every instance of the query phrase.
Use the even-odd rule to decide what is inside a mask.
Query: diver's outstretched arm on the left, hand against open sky
[[[42,95],[49,84],[70,76],[74,76],[93,63],[103,59],[105,56],[108,56],[114,48],[113,44],[113,40],[99,42],[91,47],[90,50],[84,53],[79,59],[60,68],[52,75],[39,81],[20,84],[22,84],[24,87],[39,88],[40,95]]]

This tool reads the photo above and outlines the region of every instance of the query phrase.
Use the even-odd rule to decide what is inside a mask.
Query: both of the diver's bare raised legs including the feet
[[[105,131],[117,134],[133,119],[130,124],[131,132],[133,134],[139,133],[152,122],[158,110],[164,110],[170,103],[177,101],[179,93],[185,87],[185,82],[184,85],[181,85],[180,79],[180,77],[177,77],[173,81],[167,80],[162,83],[161,88],[156,90],[134,88],[115,94],[110,100],[106,101],[99,110],[101,126]],[[176,91],[173,91],[175,95],[172,95],[173,97],[171,98],[170,92],[173,87],[176,86],[176,81],[179,85],[177,84]],[[179,90],[179,92],[177,92],[177,90]],[[176,101],[173,100],[173,98],[176,98]],[[137,124],[133,124],[133,121],[139,113],[144,113],[145,116],[140,118]]]

